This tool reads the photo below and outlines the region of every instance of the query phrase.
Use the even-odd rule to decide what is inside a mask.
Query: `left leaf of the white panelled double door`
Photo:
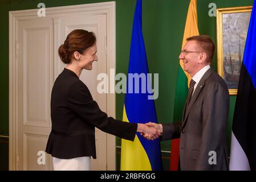
[[[50,94],[54,83],[52,19],[18,22],[18,170],[50,170],[38,164],[51,129]]]

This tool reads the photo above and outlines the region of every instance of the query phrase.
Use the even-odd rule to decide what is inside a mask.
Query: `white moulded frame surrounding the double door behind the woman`
[[[39,9],[9,11],[9,169],[17,169],[17,126],[18,126],[18,22],[38,19]],[[61,6],[46,8],[44,19],[52,19],[54,32],[59,31],[59,18],[70,13],[107,16],[107,74],[116,68],[116,2],[92,3],[86,5]],[[56,34],[55,34],[56,35]],[[59,36],[54,36],[54,50],[58,50]],[[54,53],[54,78],[59,75],[60,59],[58,51]],[[50,98],[49,98],[50,99]],[[107,114],[116,116],[115,94],[107,94]],[[107,134],[107,169],[116,169],[116,138]]]

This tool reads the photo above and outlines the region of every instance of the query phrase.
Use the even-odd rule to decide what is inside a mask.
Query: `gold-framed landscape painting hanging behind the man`
[[[243,6],[217,9],[217,69],[230,95],[237,95],[252,8]]]

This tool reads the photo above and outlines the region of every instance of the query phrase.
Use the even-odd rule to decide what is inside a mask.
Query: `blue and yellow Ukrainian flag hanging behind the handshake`
[[[131,40],[131,50],[129,57],[129,73],[134,75],[145,75],[148,73],[148,63],[141,30],[141,0],[137,0],[135,15],[133,19],[133,30]],[[136,82],[128,76],[127,93],[124,101],[123,121],[131,123],[147,123],[157,122],[156,109],[153,100],[149,100],[148,96],[152,96],[151,83],[142,84],[143,79],[140,79],[140,93],[135,93]],[[132,82],[132,85],[131,85]],[[131,86],[133,93],[131,93]],[[146,93],[142,93],[141,86],[146,86]],[[161,170],[161,148],[160,140],[144,139],[139,133],[136,134],[133,142],[121,140],[121,170]]]

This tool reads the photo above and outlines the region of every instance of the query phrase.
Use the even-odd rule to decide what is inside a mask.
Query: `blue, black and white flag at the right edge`
[[[247,33],[232,130],[230,170],[256,170],[256,1]]]

